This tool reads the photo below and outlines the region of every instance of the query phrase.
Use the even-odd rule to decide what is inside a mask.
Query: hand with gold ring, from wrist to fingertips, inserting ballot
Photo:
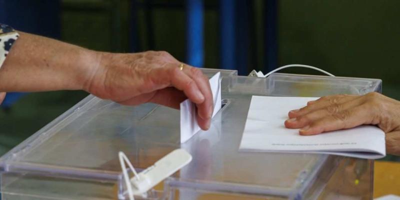
[[[124,105],[154,102],[173,108],[189,98],[197,106],[197,122],[208,129],[213,101],[208,78],[165,51],[99,53],[84,90]],[[186,97],[187,96],[187,97]]]

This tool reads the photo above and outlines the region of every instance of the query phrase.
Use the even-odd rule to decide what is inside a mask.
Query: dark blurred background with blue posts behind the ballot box
[[[0,22],[94,50],[166,50],[191,65],[240,75],[309,64],[382,79],[383,94],[400,99],[398,7],[398,0],[0,0]],[[86,95],[7,94],[0,154]]]

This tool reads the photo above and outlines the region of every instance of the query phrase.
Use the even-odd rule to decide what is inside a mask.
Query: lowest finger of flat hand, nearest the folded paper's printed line
[[[299,133],[302,135],[313,135],[321,132],[352,128],[368,123],[368,121],[371,121],[371,117],[372,114],[368,111],[368,107],[360,105],[312,121],[309,125],[301,128]]]

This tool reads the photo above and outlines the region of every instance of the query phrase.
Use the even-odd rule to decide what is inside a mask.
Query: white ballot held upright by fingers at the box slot
[[[217,72],[209,79],[214,111],[212,117],[221,109],[221,73]],[[196,105],[189,99],[180,103],[180,143],[190,139],[200,130],[196,120]]]

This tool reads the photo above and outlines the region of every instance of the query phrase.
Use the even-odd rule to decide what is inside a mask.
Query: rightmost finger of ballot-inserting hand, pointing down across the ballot
[[[204,95],[204,102],[197,104],[198,116],[202,119],[210,119],[213,111],[213,98],[208,78],[196,67],[185,65],[183,72],[191,77],[201,93]]]

